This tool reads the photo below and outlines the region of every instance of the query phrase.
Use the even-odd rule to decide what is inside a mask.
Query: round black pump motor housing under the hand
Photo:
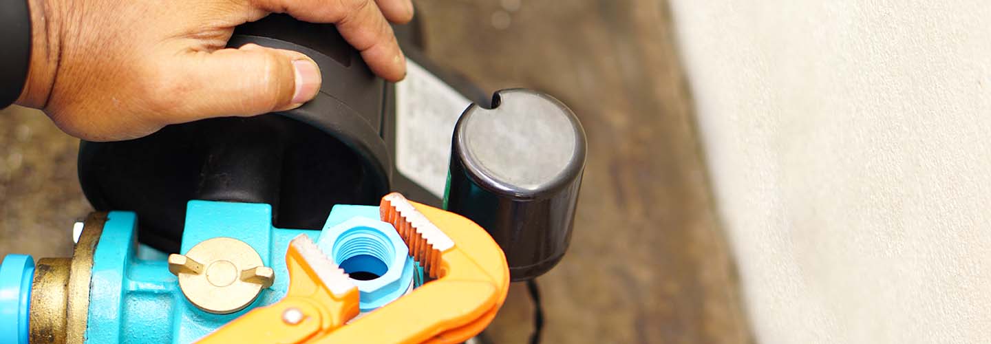
[[[333,25],[272,15],[238,27],[229,46],[249,43],[312,57],[323,76],[316,98],[286,112],[80,144],[86,197],[98,210],[137,212],[141,242],[176,252],[190,199],[270,203],[276,226],[320,228],[334,204],[378,204],[390,189],[391,84]]]

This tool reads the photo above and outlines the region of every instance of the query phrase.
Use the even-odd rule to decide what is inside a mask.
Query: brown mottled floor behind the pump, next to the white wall
[[[749,343],[691,95],[663,1],[419,0],[428,56],[484,89],[548,92],[590,148],[571,250],[540,279],[545,343]],[[67,256],[90,210],[76,140],[44,114],[0,112],[0,255]],[[522,343],[514,286],[489,333]]]

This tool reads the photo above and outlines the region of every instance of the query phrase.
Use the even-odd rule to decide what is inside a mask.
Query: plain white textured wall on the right
[[[671,0],[761,343],[991,343],[991,1]]]

